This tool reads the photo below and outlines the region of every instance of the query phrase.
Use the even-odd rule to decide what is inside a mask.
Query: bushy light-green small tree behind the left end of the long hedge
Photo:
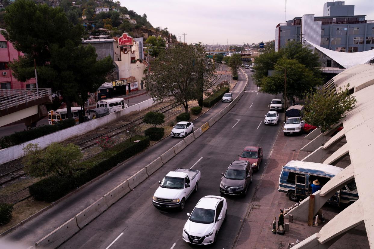
[[[45,150],[41,150],[37,143],[29,143],[23,150],[26,155],[25,172],[32,177],[44,177],[49,174],[73,176],[72,169],[82,158],[79,146],[72,143],[52,143]]]

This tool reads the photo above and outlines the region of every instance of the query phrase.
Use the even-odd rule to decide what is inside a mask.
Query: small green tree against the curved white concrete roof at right
[[[336,93],[335,89],[323,87],[316,92],[311,90],[306,96],[304,119],[308,124],[321,127],[322,132],[331,130],[357,103],[349,93],[349,84],[344,90],[340,87]]]

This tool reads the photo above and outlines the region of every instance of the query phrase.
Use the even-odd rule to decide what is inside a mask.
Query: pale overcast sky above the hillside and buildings
[[[186,42],[243,44],[273,40],[275,27],[284,22],[285,0],[120,0],[121,6],[147,15],[153,27],[167,27]],[[286,19],[305,14],[322,16],[327,0],[287,0]],[[374,20],[374,0],[347,0],[355,15]],[[183,37],[182,37],[183,41]]]

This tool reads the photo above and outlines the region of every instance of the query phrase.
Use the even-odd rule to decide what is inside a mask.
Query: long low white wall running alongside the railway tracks
[[[117,119],[122,118],[124,115],[128,115],[129,113],[139,112],[144,109],[147,109],[151,105],[153,105],[153,99],[148,99],[136,105],[122,109],[121,111],[110,113],[110,115],[92,119],[82,124],[77,124],[73,127],[69,127],[64,130],[48,134],[46,136],[39,137],[22,144],[2,149],[0,150],[0,164],[24,156],[23,148],[29,143],[38,143],[40,148],[44,149],[53,142],[61,142],[71,137],[80,136],[82,134],[87,133],[88,131],[95,130],[113,121],[116,121]]]

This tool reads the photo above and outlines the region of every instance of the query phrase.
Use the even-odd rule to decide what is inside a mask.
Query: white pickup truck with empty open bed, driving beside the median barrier
[[[184,209],[184,204],[192,192],[199,186],[201,173],[195,169],[176,169],[165,175],[160,186],[154,192],[153,205],[156,208]]]

